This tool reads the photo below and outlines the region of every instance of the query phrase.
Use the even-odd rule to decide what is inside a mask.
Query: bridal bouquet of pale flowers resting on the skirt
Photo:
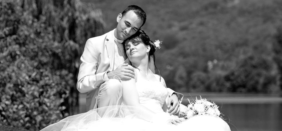
[[[189,100],[189,103],[190,104],[187,105],[185,112],[180,113],[180,117],[189,119],[196,115],[213,115],[222,118],[223,114],[220,113],[218,106],[214,102],[211,103],[206,99],[197,99],[196,97],[196,100],[193,100],[192,102]]]

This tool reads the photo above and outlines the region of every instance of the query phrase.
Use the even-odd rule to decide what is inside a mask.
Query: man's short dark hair
[[[122,17],[128,12],[133,10],[133,12],[137,15],[138,18],[140,18],[143,21],[142,26],[145,24],[146,22],[146,13],[144,12],[144,10],[136,5],[130,5],[127,8],[124,9],[124,11],[122,12]],[[142,27],[141,26],[141,27]]]

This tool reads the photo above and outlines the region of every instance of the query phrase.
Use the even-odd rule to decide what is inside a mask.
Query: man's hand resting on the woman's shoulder
[[[135,77],[134,68],[127,63],[121,64],[115,70],[107,73],[109,79],[114,79],[115,75],[120,79],[131,79],[131,77]]]

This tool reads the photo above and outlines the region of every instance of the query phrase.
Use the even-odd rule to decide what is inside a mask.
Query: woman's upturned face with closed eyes
[[[143,44],[142,42],[125,42],[125,50],[128,59],[131,62],[140,61],[141,59],[149,56],[150,46]]]

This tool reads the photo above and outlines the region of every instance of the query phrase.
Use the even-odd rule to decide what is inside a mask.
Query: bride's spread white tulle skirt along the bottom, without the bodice
[[[170,125],[167,124],[168,120],[176,119],[176,116],[165,112],[154,116],[149,114],[133,106],[108,106],[69,116],[42,131],[230,131],[228,124],[219,117],[198,115],[183,120],[179,125]]]

